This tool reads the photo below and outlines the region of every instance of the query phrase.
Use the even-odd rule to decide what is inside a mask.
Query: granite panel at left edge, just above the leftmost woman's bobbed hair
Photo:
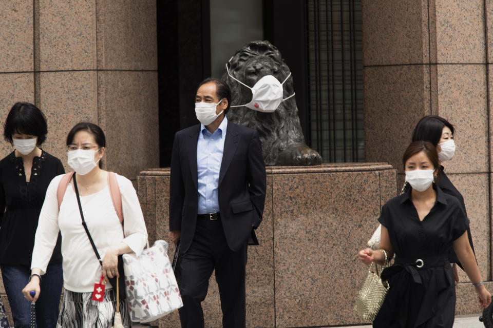
[[[0,74],[0,122],[2,126],[10,109],[17,101],[34,102],[33,73]],[[0,158],[4,158],[12,149],[8,142],[0,142]]]

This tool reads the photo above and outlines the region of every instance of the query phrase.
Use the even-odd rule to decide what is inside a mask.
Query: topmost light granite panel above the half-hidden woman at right
[[[437,49],[436,61],[432,63],[485,63],[485,31],[483,0],[432,1],[434,28],[430,44]],[[432,46],[431,49],[434,47]]]

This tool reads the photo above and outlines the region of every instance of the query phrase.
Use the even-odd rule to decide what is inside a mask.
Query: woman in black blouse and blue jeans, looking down
[[[16,103],[4,125],[4,138],[15,149],[0,161],[0,269],[15,328],[30,327],[31,302],[22,289],[41,279],[44,293],[36,302],[37,328],[56,326],[62,291],[60,235],[43,277],[31,277],[34,234],[50,181],[65,173],[60,159],[40,148],[47,134],[43,113]],[[34,276],[34,275],[33,275]]]

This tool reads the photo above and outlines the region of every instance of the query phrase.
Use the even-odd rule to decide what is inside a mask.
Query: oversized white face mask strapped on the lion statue
[[[231,60],[231,59],[230,59]],[[250,88],[246,84],[244,84],[242,81],[239,79],[233,77],[233,75],[230,74],[230,70],[227,67],[226,63],[226,71],[227,75],[229,75],[232,79],[237,81],[238,83],[244,85],[245,87],[249,88],[252,90],[252,100],[250,103],[245,104],[245,105],[235,105],[235,106],[230,106],[230,107],[242,107],[246,106],[250,109],[259,111],[259,112],[264,112],[264,113],[272,113],[279,107],[279,105],[282,103],[282,101],[287,100],[291,98],[292,96],[295,95],[293,93],[289,97],[283,99],[283,90],[282,90],[282,85],[286,82],[286,80],[291,76],[291,72],[289,73],[288,77],[286,77],[282,83],[279,82],[277,78],[275,78],[273,75],[265,75],[260,78],[253,88]]]

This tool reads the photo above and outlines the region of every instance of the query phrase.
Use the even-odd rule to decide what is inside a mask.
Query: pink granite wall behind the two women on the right
[[[478,264],[491,281],[489,64],[493,4],[482,0],[362,0],[365,153],[398,169],[418,120],[440,115],[456,127],[456,156],[444,164],[463,194]],[[389,119],[382,120],[381,117]],[[461,272],[457,313],[479,313]]]

